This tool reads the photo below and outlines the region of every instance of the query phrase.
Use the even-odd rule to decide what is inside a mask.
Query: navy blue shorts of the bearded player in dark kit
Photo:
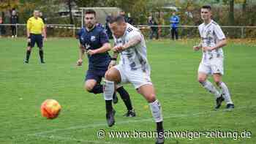
[[[89,69],[86,72],[86,80],[96,80],[97,83],[102,81],[102,77],[105,77],[105,70],[92,70]]]

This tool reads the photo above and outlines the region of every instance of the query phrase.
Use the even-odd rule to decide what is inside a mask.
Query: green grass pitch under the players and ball
[[[225,51],[224,81],[230,88],[235,109],[214,110],[215,99],[197,83],[201,53],[194,52],[196,40],[148,41],[151,79],[162,104],[166,131],[252,132],[250,138],[200,137],[167,138],[165,143],[256,143],[256,49],[246,44],[228,43]],[[45,62],[39,64],[38,48],[30,63],[23,64],[26,39],[0,39],[0,143],[154,143],[154,138],[97,138],[97,131],[154,131],[155,125],[146,100],[132,85],[125,85],[137,113],[126,112],[120,96],[116,125],[105,121],[101,94],[83,90],[87,58],[76,67],[76,39],[51,38],[45,42]],[[210,79],[212,81],[212,79]],[[40,105],[56,99],[62,106],[59,118],[42,118]]]

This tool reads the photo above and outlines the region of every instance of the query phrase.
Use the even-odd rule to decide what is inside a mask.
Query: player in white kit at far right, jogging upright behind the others
[[[216,109],[219,109],[225,100],[226,108],[232,110],[234,105],[230,98],[230,92],[226,84],[222,82],[222,75],[224,74],[222,47],[227,45],[225,34],[223,34],[220,26],[211,20],[211,6],[201,7],[201,18],[203,23],[198,27],[201,42],[193,47],[194,50],[203,49],[203,58],[198,68],[198,82],[202,84],[203,88],[215,95]],[[213,76],[220,91],[207,80],[208,75]]]

